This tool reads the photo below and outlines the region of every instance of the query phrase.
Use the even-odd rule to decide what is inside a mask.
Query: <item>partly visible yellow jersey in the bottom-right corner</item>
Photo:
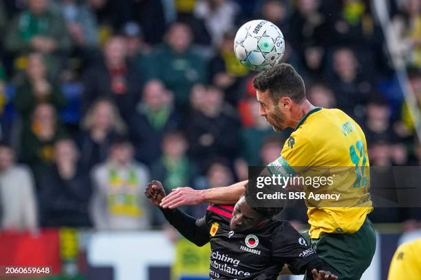
[[[421,238],[407,242],[396,250],[389,268],[387,280],[419,280],[421,279]]]

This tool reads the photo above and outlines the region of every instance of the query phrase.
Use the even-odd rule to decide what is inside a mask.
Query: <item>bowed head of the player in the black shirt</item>
[[[230,229],[237,232],[250,231],[259,226],[260,222],[277,215],[281,210],[282,208],[277,207],[251,207],[247,185],[246,191],[235,204]]]

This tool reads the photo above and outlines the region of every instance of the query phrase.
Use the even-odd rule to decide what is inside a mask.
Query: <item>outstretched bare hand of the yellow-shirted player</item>
[[[160,207],[173,209],[183,205],[198,205],[203,202],[202,192],[191,187],[177,187],[162,199]]]

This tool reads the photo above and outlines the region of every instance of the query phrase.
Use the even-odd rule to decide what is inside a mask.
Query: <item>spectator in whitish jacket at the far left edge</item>
[[[1,230],[32,231],[38,229],[34,178],[24,165],[14,161],[14,151],[0,142]]]

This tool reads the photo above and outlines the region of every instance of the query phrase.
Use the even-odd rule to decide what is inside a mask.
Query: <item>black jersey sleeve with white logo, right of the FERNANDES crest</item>
[[[285,223],[273,235],[272,258],[279,264],[287,264],[292,273],[303,274],[307,264],[319,259],[319,255],[296,229]]]

